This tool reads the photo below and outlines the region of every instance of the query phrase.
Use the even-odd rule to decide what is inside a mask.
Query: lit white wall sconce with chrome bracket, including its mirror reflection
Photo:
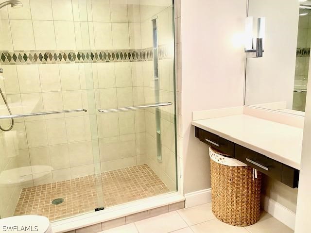
[[[257,19],[257,38],[256,38],[256,49],[254,49],[254,38],[253,38],[253,17],[246,17],[245,21],[245,52],[254,52],[256,56],[262,57],[263,54],[263,39],[265,32],[265,18],[260,17]]]

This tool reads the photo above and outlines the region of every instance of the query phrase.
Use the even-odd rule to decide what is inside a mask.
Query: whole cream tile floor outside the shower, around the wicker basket
[[[235,227],[216,219],[211,203],[169,212],[134,223],[112,228],[102,233],[294,233],[293,230],[266,212],[259,222],[247,227]]]

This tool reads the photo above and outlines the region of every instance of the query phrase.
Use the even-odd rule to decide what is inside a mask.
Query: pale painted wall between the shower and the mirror
[[[210,187],[207,145],[193,111],[243,104],[246,0],[181,0],[182,150],[185,193]]]

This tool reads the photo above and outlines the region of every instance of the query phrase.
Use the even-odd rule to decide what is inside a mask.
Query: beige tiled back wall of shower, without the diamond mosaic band
[[[21,1],[23,8],[0,10],[1,50],[141,48],[138,0]],[[16,119],[15,167],[26,167],[21,176],[29,181],[22,186],[94,174],[99,165],[134,166],[146,153],[144,111],[97,112],[144,102],[142,62],[2,67],[13,114],[88,110]]]

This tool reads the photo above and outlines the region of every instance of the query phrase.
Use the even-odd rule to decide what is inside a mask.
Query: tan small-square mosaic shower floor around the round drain
[[[103,189],[102,191],[98,189]],[[42,215],[51,221],[169,192],[148,165],[23,188],[14,215]],[[104,198],[102,197],[104,195]],[[52,200],[64,202],[53,205]]]

